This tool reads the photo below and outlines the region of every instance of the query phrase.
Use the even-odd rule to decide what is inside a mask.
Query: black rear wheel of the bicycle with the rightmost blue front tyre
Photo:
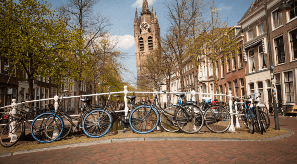
[[[176,113],[177,125],[185,133],[193,134],[201,130],[204,124],[203,112],[193,105],[184,105]]]

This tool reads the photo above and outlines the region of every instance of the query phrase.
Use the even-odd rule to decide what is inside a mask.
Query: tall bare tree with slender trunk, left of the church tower
[[[57,7],[59,15],[64,18],[65,23],[69,28],[79,28],[83,31],[82,38],[84,38],[84,47],[78,54],[75,55],[77,76],[77,92],[76,95],[80,95],[81,81],[83,79],[82,74],[85,69],[85,62],[88,58],[87,54],[90,53],[89,48],[92,42],[101,38],[109,31],[111,23],[108,17],[103,16],[100,13],[93,14],[93,6],[98,3],[98,0],[67,0],[66,4]],[[93,89],[93,93],[95,90]],[[79,98],[75,99],[75,113],[78,114]]]

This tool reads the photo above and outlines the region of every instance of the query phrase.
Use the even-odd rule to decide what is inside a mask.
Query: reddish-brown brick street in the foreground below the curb
[[[274,119],[270,117],[272,126]],[[297,118],[280,117],[297,131]],[[297,135],[273,141],[137,141],[0,158],[1,163],[297,163]]]

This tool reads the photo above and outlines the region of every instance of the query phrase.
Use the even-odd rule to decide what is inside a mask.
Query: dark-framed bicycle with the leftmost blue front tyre
[[[64,90],[63,92],[72,92],[68,90]],[[82,97],[81,97],[82,98]],[[81,99],[84,102],[82,112],[79,118],[71,118],[70,115],[66,113],[62,106],[63,96],[60,98],[57,109],[53,112],[46,112],[38,115],[32,122],[30,131],[32,137],[41,142],[41,143],[50,143],[57,139],[65,138],[70,131],[72,130],[72,126],[75,126],[73,131],[76,128],[83,128],[85,134],[88,135],[87,131],[84,128],[84,122],[82,122],[86,116],[91,111],[96,111],[98,108],[87,108],[86,104],[90,102],[90,99]],[[60,117],[61,116],[61,117]],[[65,125],[63,119],[66,119],[70,124]],[[75,124],[72,119],[77,121]]]

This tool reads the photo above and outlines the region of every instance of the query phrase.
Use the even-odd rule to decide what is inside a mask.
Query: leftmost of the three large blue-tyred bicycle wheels
[[[32,122],[30,131],[33,138],[41,143],[50,143],[60,137],[63,132],[64,122],[54,113],[38,115]]]

